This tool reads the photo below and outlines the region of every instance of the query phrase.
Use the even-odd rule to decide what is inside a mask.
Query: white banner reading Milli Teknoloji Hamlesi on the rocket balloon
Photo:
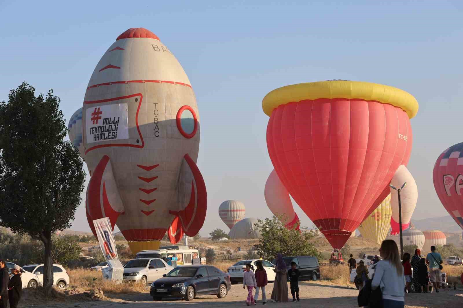
[[[87,143],[129,138],[127,104],[91,105],[86,112]]]

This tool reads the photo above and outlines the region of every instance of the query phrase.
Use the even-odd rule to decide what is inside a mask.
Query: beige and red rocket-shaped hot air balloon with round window
[[[155,34],[131,28],[117,37],[77,114],[94,233],[92,221],[109,217],[132,253],[158,248],[166,232],[172,243],[198,233],[206,216],[198,107],[183,68]]]

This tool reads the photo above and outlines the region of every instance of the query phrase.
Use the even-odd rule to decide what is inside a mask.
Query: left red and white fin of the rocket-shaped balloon
[[[107,155],[101,158],[90,178],[85,197],[85,210],[88,225],[95,237],[93,225],[95,219],[109,217],[111,227],[114,229],[119,215],[124,212],[124,204],[116,186],[113,167]]]

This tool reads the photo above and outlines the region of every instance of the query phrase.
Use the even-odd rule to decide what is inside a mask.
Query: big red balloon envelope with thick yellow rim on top
[[[418,102],[400,89],[348,80],[284,86],[262,102],[278,177],[333,248],[389,194],[412,149]]]

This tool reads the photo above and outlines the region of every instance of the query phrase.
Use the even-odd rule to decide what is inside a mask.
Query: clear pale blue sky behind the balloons
[[[419,189],[412,219],[448,215],[432,168],[442,151],[463,141],[462,1],[220,2],[3,1],[0,100],[22,81],[37,94],[53,88],[68,121],[116,37],[131,27],[149,29],[174,53],[196,95],[206,235],[228,232],[217,212],[227,199],[242,201],[246,217],[271,216],[263,196],[273,169],[265,94],[331,79],[395,86],[419,102],[408,164]],[[90,230],[85,201],[72,229]]]

